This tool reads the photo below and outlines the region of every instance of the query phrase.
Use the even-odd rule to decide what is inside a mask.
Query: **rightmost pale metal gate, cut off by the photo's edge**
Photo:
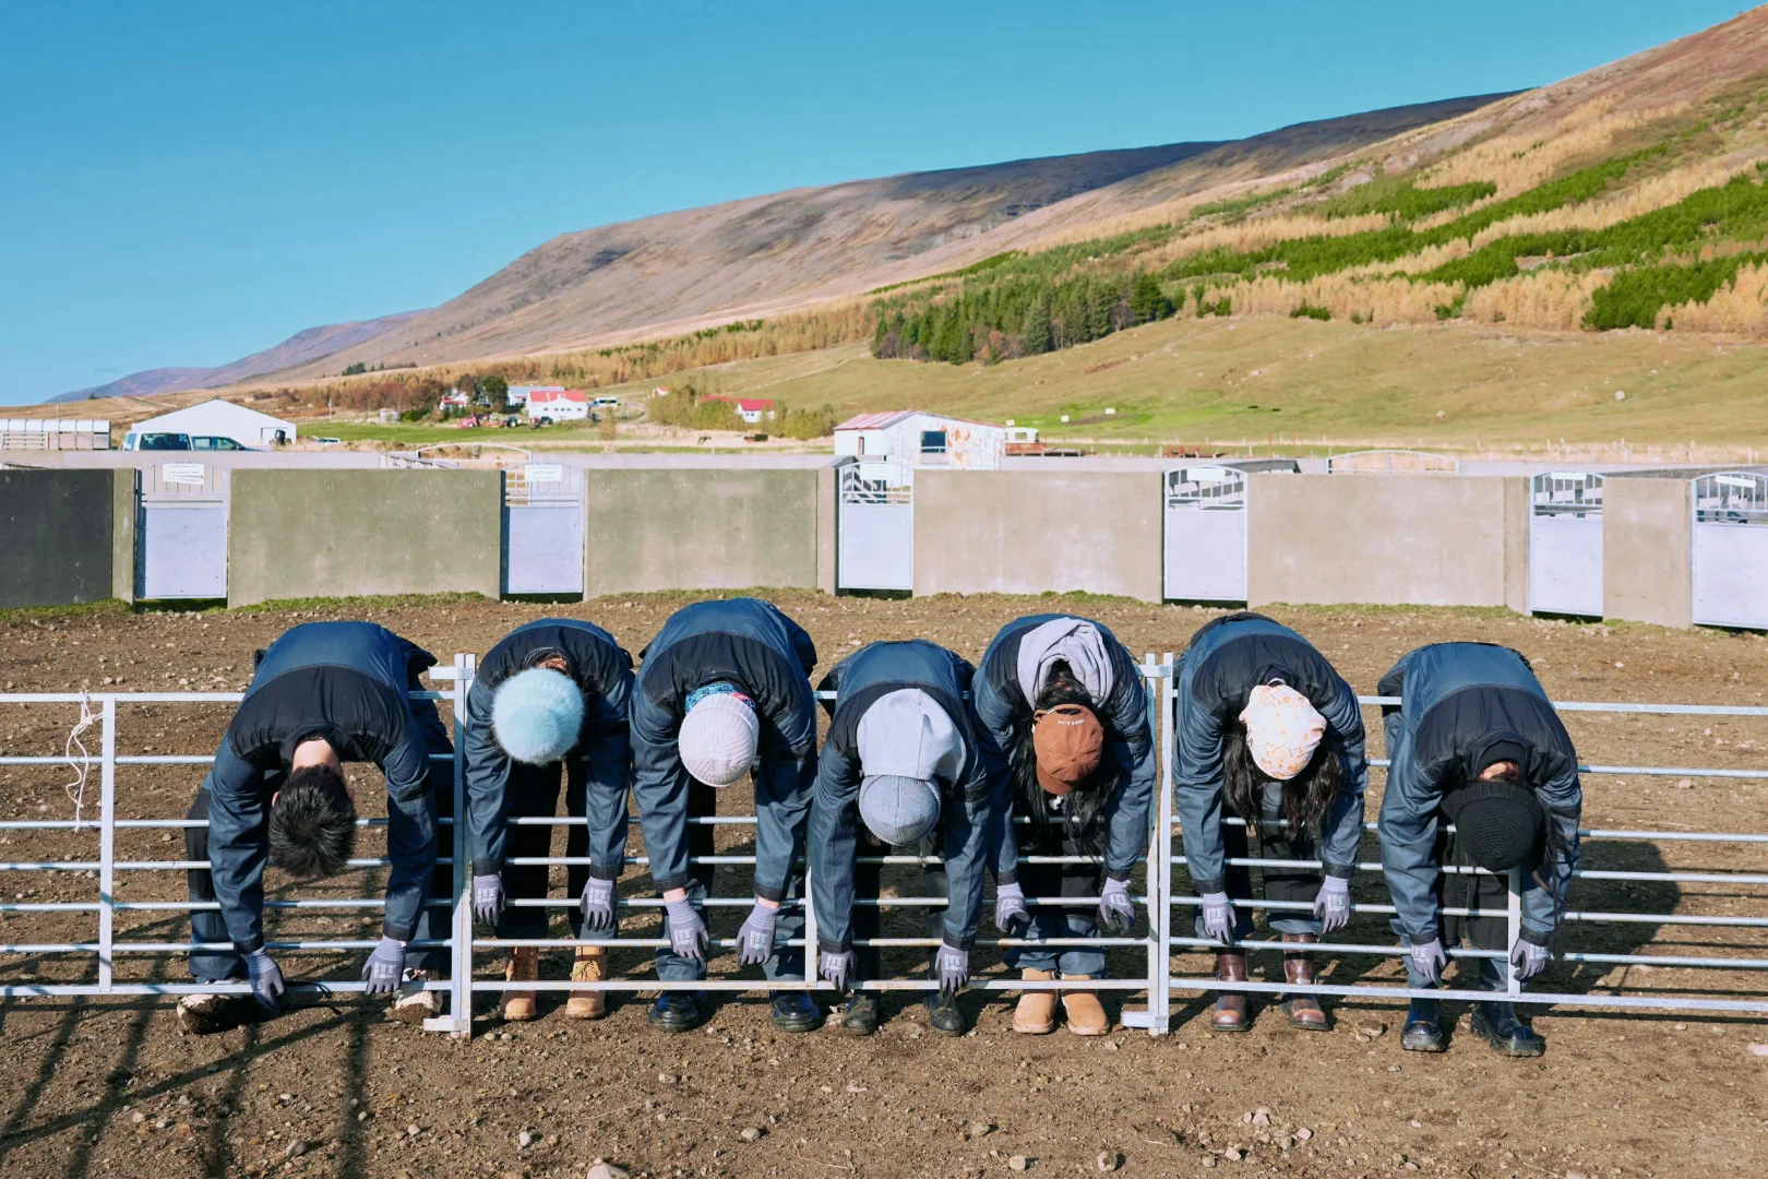
[[[1694,620],[1768,628],[1768,475],[1694,481]]]

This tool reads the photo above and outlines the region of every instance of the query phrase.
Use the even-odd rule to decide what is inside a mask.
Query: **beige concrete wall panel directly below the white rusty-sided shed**
[[[916,594],[1160,601],[1158,472],[914,474]]]

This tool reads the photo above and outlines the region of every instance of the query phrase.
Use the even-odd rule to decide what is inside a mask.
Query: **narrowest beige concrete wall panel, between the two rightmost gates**
[[[1694,536],[1685,479],[1602,484],[1602,613],[1694,626]]]

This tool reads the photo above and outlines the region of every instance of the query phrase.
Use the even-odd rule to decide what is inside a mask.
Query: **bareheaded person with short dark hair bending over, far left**
[[[193,901],[191,976],[202,983],[248,979],[263,1009],[276,1009],[283,974],[263,947],[263,866],[297,880],[336,875],[355,848],[355,797],[345,762],[371,762],[387,780],[387,905],[380,944],[362,967],[370,995],[392,995],[401,979],[428,981],[447,967],[446,947],[412,949],[447,937],[451,871],[437,866],[437,818],[453,811],[453,765],[435,702],[415,702],[419,675],[435,656],[373,622],[308,622],[258,652],[251,686],[228,723],[214,767],[191,802],[186,856],[207,859],[187,875]],[[212,949],[230,942],[228,949]],[[392,1015],[421,1022],[440,1015],[438,992],[403,995]],[[179,1002],[193,1032],[232,1025],[230,995],[196,993]]]

